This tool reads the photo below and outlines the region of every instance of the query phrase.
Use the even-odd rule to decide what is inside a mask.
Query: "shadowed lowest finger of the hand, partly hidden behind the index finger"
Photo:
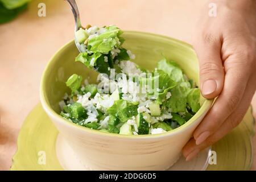
[[[216,131],[216,133],[210,135],[210,137],[207,138],[207,140],[205,140],[203,143],[199,145],[197,145],[196,140],[192,138],[183,147],[183,155],[186,158],[186,160],[192,159],[200,150],[203,150],[204,148],[211,146],[213,143],[216,143],[242,121],[242,118],[245,115],[248,107],[250,106],[250,101],[253,98],[255,92],[256,86],[253,80],[255,80],[255,78],[250,78],[246,86],[246,92],[243,95],[243,100],[237,107],[236,111],[226,119],[226,121],[221,125],[220,129]]]

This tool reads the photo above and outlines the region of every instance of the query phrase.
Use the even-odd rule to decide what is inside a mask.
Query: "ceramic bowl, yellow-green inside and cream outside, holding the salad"
[[[126,39],[123,47],[136,55],[134,62],[139,66],[152,70],[165,55],[175,60],[185,74],[199,85],[198,61],[189,44],[144,32],[126,31],[123,37]],[[58,103],[69,91],[65,81],[73,73],[88,78],[90,83],[96,82],[97,78],[96,72],[75,62],[78,53],[73,41],[55,53],[43,73],[40,99],[44,110],[81,162],[92,169],[159,170],[174,164],[213,101],[203,100],[200,110],[187,123],[163,134],[127,136],[75,125],[59,115]]]

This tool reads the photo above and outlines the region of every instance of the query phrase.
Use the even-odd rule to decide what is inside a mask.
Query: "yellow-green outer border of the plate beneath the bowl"
[[[63,170],[56,155],[58,134],[43,107],[38,104],[20,130],[18,150],[13,156],[11,170]],[[240,125],[212,146],[217,154],[217,164],[209,165],[207,170],[249,170],[253,162],[253,135],[254,119],[250,108]],[[43,155],[40,151],[47,153],[45,163],[40,162]]]

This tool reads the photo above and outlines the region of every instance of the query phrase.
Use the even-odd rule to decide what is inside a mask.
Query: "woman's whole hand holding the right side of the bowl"
[[[211,146],[236,127],[256,89],[256,1],[210,1],[196,28],[193,45],[200,62],[200,88],[205,98],[217,97],[209,113],[183,148],[186,160]]]

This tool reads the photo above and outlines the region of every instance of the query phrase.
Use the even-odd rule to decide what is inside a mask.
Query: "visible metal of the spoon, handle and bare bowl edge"
[[[80,16],[79,16],[79,9],[76,5],[76,1],[75,0],[66,0],[68,1],[69,5],[71,6],[74,18],[75,18],[75,32],[77,30],[79,30],[82,27],[81,24],[81,20],[80,20]],[[75,36],[75,43],[76,43],[76,47],[79,50],[79,52],[85,52],[84,48],[81,46],[81,44],[77,41],[76,36]]]

